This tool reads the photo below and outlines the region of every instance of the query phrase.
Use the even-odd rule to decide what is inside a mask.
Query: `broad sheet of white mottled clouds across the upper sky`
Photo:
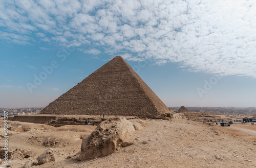
[[[0,1],[0,39],[256,78],[253,0]],[[44,47],[42,47],[44,50]]]

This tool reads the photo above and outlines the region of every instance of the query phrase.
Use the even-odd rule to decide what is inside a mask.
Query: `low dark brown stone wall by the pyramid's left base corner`
[[[14,115],[11,118],[11,121],[18,122],[27,122],[27,123],[36,123],[36,124],[45,124],[50,119],[54,119],[56,116],[54,115]]]

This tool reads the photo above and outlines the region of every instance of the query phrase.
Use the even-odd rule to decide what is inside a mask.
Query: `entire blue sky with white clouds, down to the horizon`
[[[45,107],[117,55],[167,106],[256,107],[255,23],[252,0],[0,1],[0,107]]]

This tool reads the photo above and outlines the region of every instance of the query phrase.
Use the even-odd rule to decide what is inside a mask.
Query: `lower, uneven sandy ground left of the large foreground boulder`
[[[9,126],[23,126],[29,129],[27,132],[8,131],[8,148],[15,151],[9,160],[12,167],[22,167],[28,160],[36,158],[49,148],[55,152],[55,161],[65,159],[80,151],[82,137],[90,135],[97,126],[62,126],[53,127],[44,124],[10,122]],[[0,135],[4,134],[4,128],[0,128]],[[4,138],[0,137],[0,146],[4,146]],[[32,151],[31,158],[25,158],[22,151]],[[2,163],[3,164],[3,163]]]

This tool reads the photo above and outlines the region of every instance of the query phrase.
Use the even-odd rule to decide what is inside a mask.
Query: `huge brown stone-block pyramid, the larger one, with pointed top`
[[[169,109],[120,56],[62,94],[40,114],[155,117]]]

